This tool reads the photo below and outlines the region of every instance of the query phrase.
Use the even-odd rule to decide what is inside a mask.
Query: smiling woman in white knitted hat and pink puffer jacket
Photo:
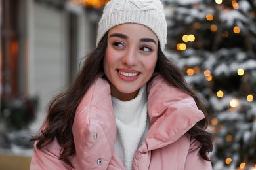
[[[166,37],[159,0],[111,0],[95,50],[32,138],[30,169],[212,169],[205,109]]]

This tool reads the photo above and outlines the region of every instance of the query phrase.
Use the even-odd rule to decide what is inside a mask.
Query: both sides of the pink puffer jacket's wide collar
[[[196,122],[204,118],[204,114],[196,107],[194,99],[170,86],[161,75],[154,77],[148,84],[148,115],[150,129],[135,153],[133,169],[148,169],[151,150],[163,148],[177,141]],[[104,154],[102,158],[106,159],[100,162],[102,169],[111,169],[110,164],[121,166],[120,161],[113,156],[116,154],[114,152],[116,122],[110,86],[103,78],[98,78],[87,90],[77,107],[72,131],[77,161],[81,169],[82,167],[96,169],[95,160],[98,159],[99,153]],[[105,138],[101,138],[100,143],[97,143],[97,135]]]

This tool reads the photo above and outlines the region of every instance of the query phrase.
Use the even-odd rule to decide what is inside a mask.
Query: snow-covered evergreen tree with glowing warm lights
[[[166,54],[209,108],[213,169],[256,169],[256,1],[162,1]]]

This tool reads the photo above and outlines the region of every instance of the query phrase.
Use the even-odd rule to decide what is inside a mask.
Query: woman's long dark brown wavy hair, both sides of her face
[[[54,97],[50,102],[43,127],[35,137],[30,139],[30,141],[37,141],[36,147],[41,149],[43,146],[50,144],[56,137],[58,144],[62,148],[59,159],[72,167],[70,156],[75,154],[72,134],[75,111],[89,86],[93,84],[99,75],[104,73],[103,60],[107,46],[107,35],[108,33],[104,35],[95,50],[89,54],[72,86]],[[186,84],[179,67],[166,58],[160,47],[158,47],[158,61],[155,72],[160,73],[173,86],[191,95],[195,99],[198,108],[205,113],[202,101],[200,101],[196,92]],[[203,159],[209,161],[207,153],[213,149],[213,135],[205,131],[206,127],[207,115],[205,114],[205,119],[192,127],[189,133],[202,144],[200,155]]]

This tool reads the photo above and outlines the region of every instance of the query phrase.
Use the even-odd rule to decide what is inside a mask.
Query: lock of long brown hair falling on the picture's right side
[[[214,137],[211,133],[205,131],[208,126],[207,109],[203,105],[196,90],[189,86],[184,80],[184,75],[181,69],[163,54],[159,46],[158,61],[156,63],[155,71],[160,73],[160,75],[162,75],[172,86],[181,89],[183,92],[193,97],[198,109],[205,115],[205,118],[193,126],[188,133],[202,144],[202,147],[200,148],[200,156],[202,156],[204,160],[211,161],[208,153],[213,151]]]

